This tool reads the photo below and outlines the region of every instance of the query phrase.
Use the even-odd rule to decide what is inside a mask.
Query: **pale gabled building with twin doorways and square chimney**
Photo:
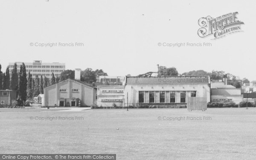
[[[49,107],[86,107],[96,104],[97,88],[80,81],[80,69],[75,77],[44,88],[44,104]]]

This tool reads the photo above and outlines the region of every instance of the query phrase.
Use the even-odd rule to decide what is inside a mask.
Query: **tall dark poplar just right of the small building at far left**
[[[21,104],[24,106],[26,102],[26,86],[27,86],[27,79],[26,79],[26,66],[24,63],[20,66],[20,73],[19,73],[19,81],[18,81],[18,99],[20,100]]]

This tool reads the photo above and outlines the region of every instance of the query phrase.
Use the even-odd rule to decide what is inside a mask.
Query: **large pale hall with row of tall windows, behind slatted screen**
[[[208,76],[126,77],[125,106],[186,107],[189,97],[210,102]]]

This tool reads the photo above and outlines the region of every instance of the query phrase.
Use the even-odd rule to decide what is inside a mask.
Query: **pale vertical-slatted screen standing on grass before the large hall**
[[[206,97],[187,97],[187,110],[207,110]]]

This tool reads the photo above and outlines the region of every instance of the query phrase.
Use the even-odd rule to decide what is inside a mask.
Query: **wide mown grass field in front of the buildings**
[[[81,116],[83,120],[35,120],[47,116]],[[180,121],[164,120],[184,116]],[[203,120],[204,116],[211,119]],[[255,160],[256,108],[208,108],[205,112],[0,108],[0,154],[7,153],[106,153],[116,154],[117,160]]]

